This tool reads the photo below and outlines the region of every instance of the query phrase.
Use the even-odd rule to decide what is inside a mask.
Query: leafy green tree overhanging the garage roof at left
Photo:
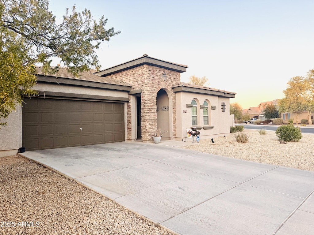
[[[89,10],[66,9],[61,23],[49,11],[47,0],[2,0],[0,2],[0,120],[32,96],[36,84],[35,64],[53,73],[51,58],[59,57],[75,76],[91,67],[100,69],[95,53],[102,41],[120,33],[105,29],[107,19],[93,19]],[[5,125],[6,123],[0,123]]]

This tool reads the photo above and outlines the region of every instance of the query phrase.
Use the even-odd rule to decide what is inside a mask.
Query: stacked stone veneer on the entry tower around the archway
[[[162,74],[166,73],[166,81]],[[151,140],[157,128],[156,97],[157,92],[165,88],[172,100],[172,128],[173,138],[176,138],[176,96],[172,86],[180,82],[180,72],[159,68],[153,65],[140,65],[138,67],[108,75],[107,77],[126,82],[132,85],[132,90],[142,89],[141,115],[142,139]],[[127,138],[132,139],[131,102],[127,104]]]

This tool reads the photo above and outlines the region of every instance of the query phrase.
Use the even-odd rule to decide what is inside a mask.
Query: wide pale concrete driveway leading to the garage
[[[314,172],[119,142],[21,155],[179,234],[314,234]]]

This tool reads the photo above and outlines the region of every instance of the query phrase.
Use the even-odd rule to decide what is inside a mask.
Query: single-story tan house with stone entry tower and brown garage
[[[187,129],[202,138],[229,135],[230,98],[236,93],[180,82],[186,65],[142,57],[79,78],[60,68],[44,76],[37,68],[39,97],[25,98],[0,130],[0,156],[28,150],[120,141],[181,141]],[[23,115],[22,115],[23,114]],[[190,139],[187,139],[190,141]]]

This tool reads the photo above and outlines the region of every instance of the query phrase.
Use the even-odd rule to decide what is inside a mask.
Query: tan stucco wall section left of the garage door
[[[7,122],[8,126],[0,129],[0,157],[14,155],[17,149],[22,147],[22,108],[16,107],[16,112],[12,111],[8,118],[1,119]],[[8,151],[9,150],[9,151]]]

